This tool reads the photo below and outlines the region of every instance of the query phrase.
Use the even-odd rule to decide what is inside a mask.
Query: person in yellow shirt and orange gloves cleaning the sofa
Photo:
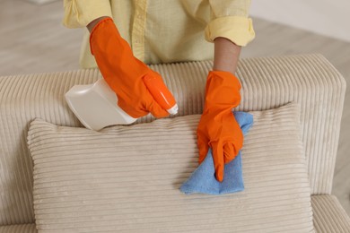
[[[255,37],[248,18],[250,1],[65,0],[64,4],[66,27],[89,30],[83,40],[82,67],[99,66],[118,95],[118,105],[130,116],[148,112],[168,116],[144,86],[146,75],[161,78],[145,64],[214,58],[197,144],[199,162],[212,148],[215,177],[223,181],[223,165],[234,159],[243,143],[232,108],[241,100],[241,84],[234,76],[241,47]]]

